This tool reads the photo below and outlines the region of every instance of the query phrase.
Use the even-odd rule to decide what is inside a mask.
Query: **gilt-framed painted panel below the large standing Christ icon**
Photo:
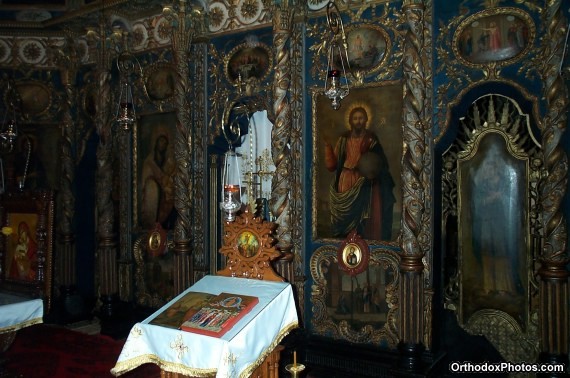
[[[310,260],[313,331],[322,336],[394,348],[401,298],[400,256],[372,248],[367,269],[355,277],[338,266],[338,249],[323,246]],[[370,301],[370,302],[369,302]]]

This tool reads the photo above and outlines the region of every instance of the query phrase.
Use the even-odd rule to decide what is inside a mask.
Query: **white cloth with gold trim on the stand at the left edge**
[[[44,303],[8,293],[0,293],[0,333],[17,331],[43,322]]]

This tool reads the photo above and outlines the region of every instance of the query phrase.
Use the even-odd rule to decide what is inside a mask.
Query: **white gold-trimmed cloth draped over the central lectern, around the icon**
[[[259,303],[220,338],[149,324],[189,291],[253,295]],[[133,326],[111,373],[119,376],[150,362],[195,377],[246,377],[297,327],[289,283],[206,276]]]

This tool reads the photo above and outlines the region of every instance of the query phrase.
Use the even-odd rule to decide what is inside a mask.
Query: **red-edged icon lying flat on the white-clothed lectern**
[[[195,314],[182,323],[180,329],[201,335],[221,337],[258,302],[259,298],[249,295],[221,293],[210,298]]]

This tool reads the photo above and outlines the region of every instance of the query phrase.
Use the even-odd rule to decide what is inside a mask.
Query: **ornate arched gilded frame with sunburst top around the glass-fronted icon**
[[[483,105],[483,104],[488,105]],[[540,178],[541,157],[540,145],[536,142],[530,129],[529,117],[521,112],[518,104],[501,95],[486,95],[472,105],[468,116],[462,118],[462,130],[458,140],[444,153],[442,162],[442,228],[446,245],[447,264],[453,261],[451,256],[457,253],[456,270],[446,271],[444,283],[445,307],[456,312],[460,326],[472,334],[485,335],[501,353],[513,362],[534,361],[538,356],[538,283],[536,260],[540,250],[540,228],[538,218],[538,180]],[[486,107],[488,106],[488,108]],[[496,115],[500,117],[496,117]],[[462,268],[463,246],[462,225],[459,223],[462,189],[459,182],[461,160],[467,161],[477,152],[480,138],[485,135],[500,135],[508,146],[508,153],[522,161],[526,166],[526,197],[529,198],[526,209],[527,229],[524,231],[524,248],[526,250],[527,277],[524,277],[524,313],[521,319],[515,319],[505,312],[500,305],[487,299],[487,307],[464,315],[465,268]],[[519,204],[520,205],[520,204]],[[456,224],[457,222],[457,224]],[[456,233],[451,232],[456,224]],[[469,225],[467,225],[469,226]],[[450,228],[451,227],[451,228]],[[448,232],[448,229],[450,232]],[[455,239],[456,238],[456,239]],[[455,247],[454,247],[455,246]],[[476,269],[470,267],[469,269]],[[520,309],[520,308],[519,308]],[[519,340],[513,343],[512,340]]]

